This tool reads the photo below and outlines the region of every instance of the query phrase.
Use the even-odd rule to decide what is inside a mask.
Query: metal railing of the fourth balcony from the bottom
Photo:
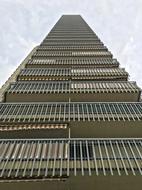
[[[39,64],[44,63],[43,61]],[[51,62],[54,64],[54,62]],[[38,64],[38,62],[36,63]],[[64,64],[64,62],[63,62]],[[88,76],[100,78],[102,77],[128,77],[128,73],[121,68],[80,68],[80,67],[72,67],[72,68],[26,68],[21,70],[19,76]]]

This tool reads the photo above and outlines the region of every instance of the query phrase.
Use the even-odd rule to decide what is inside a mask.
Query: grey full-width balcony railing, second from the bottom
[[[142,103],[1,103],[0,122],[142,120]]]

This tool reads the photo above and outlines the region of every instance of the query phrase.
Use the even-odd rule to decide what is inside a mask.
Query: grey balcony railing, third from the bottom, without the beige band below
[[[137,93],[140,89],[134,82],[16,82],[7,93]]]

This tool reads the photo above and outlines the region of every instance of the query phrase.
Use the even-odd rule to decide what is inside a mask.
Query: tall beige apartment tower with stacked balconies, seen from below
[[[136,82],[79,15],[62,16],[0,91],[0,189],[142,185]]]

